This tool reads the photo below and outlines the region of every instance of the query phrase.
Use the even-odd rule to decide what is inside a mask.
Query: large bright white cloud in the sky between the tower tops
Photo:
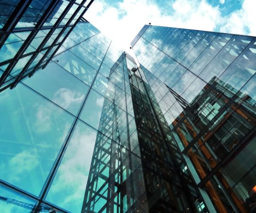
[[[205,0],[176,0],[167,7],[172,11],[171,15],[161,12],[153,0],[123,0],[117,7],[105,0],[95,0],[85,18],[128,52],[131,40],[149,22],[211,31],[221,20],[218,7],[209,5]]]

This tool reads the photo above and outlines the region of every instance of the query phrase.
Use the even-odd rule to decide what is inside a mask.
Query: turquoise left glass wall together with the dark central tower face
[[[156,100],[131,56],[78,23],[0,92],[0,209],[207,212]]]

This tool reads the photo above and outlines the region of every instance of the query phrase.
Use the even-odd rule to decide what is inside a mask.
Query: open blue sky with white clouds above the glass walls
[[[256,36],[256,0],[94,0],[84,17],[128,50],[152,25]]]

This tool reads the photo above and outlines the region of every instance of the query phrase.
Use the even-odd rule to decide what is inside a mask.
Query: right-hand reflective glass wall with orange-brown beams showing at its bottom
[[[146,25],[131,44],[206,207],[250,212],[256,38]]]

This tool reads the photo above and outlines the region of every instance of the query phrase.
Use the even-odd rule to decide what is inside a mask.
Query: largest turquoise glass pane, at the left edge
[[[74,117],[19,83],[0,93],[0,178],[39,196]]]

